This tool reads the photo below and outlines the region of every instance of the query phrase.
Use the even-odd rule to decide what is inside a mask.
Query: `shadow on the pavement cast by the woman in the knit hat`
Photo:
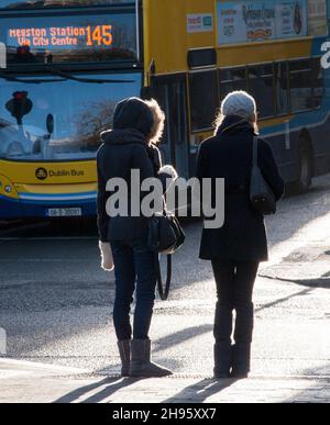
[[[237,381],[235,379],[204,379],[162,403],[204,403],[207,399],[233,385]]]

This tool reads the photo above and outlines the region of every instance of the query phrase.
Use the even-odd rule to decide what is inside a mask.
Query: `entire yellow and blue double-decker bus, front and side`
[[[221,99],[248,90],[285,181],[306,190],[330,171],[328,12],[326,0],[0,0],[0,220],[94,215],[99,134],[132,96],[160,101],[164,160],[189,177]]]

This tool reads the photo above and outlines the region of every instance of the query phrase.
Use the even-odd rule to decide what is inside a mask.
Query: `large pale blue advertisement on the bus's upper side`
[[[327,35],[326,0],[218,1],[218,43]]]

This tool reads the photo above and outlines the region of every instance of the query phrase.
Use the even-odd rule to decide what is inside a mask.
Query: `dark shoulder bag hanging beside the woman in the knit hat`
[[[253,165],[251,174],[250,199],[257,212],[264,215],[276,213],[276,199],[257,165],[258,138],[253,138]]]

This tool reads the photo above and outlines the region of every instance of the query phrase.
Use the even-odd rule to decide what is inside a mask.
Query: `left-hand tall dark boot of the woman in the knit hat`
[[[215,323],[215,378],[229,378],[231,369],[232,309],[217,303]]]

